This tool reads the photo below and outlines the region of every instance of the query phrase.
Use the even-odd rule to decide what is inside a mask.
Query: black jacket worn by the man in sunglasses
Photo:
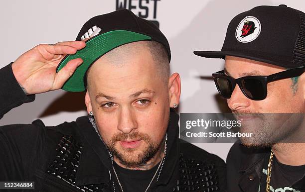
[[[227,156],[228,192],[258,192],[264,159],[270,157],[270,153],[271,149],[268,148],[247,148],[235,143]],[[305,175],[292,187],[305,192]]]

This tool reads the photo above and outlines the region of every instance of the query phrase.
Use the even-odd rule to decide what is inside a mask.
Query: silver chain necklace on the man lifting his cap
[[[103,142],[103,144],[104,144],[105,147],[107,148],[107,146],[106,146],[104,140],[102,139],[102,136],[101,136],[101,134],[100,134],[100,132],[99,132],[97,126],[96,126],[95,120],[94,120],[94,118],[93,118],[91,115],[89,115],[89,120],[90,120],[90,122],[91,122],[93,128],[95,129],[96,133],[97,133],[98,136],[100,137],[101,141]],[[167,133],[166,133],[166,137],[165,137],[165,147],[164,147],[163,157],[162,157],[162,159],[161,159],[161,161],[160,161],[160,163],[159,163],[159,165],[158,165],[158,168],[157,168],[156,172],[154,173],[154,175],[153,175],[153,177],[152,177],[152,180],[151,180],[150,184],[149,184],[148,187],[146,188],[145,192],[147,192],[148,189],[151,187],[152,181],[153,181],[153,179],[155,178],[155,176],[156,176],[157,173],[158,173],[158,177],[157,177],[156,181],[158,181],[158,179],[159,179],[159,176],[160,176],[160,174],[161,174],[161,171],[162,171],[162,168],[163,168],[163,164],[164,164],[164,161],[165,161],[166,146],[167,146],[166,143],[167,143]],[[122,187],[122,184],[121,184],[121,182],[120,182],[120,180],[119,180],[119,177],[118,177],[118,175],[117,175],[117,172],[116,172],[116,170],[115,170],[115,168],[114,168],[114,166],[113,166],[113,156],[112,156],[112,153],[110,152],[110,150],[109,150],[108,148],[107,148],[107,150],[108,150],[108,153],[109,153],[109,156],[110,156],[110,159],[111,159],[112,169],[113,169],[113,171],[114,171],[114,173],[115,173],[115,175],[116,175],[116,178],[117,178],[117,180],[118,180],[118,183],[119,183],[119,186],[120,186],[122,192],[124,192],[123,187]],[[116,189],[115,189],[115,185],[114,185],[114,181],[113,181],[113,180],[112,180],[112,184],[113,184],[113,189],[114,189],[114,192],[115,192]]]

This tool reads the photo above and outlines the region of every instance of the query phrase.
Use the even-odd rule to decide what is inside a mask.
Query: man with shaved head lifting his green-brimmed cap
[[[89,114],[0,127],[0,181],[41,192],[224,191],[223,160],[178,138],[180,76],[169,75],[160,30],[123,9],[91,18],[76,40],[38,45],[0,70],[0,116],[57,89],[84,91]]]

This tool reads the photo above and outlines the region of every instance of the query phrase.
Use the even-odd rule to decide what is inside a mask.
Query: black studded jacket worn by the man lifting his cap
[[[16,82],[11,65],[0,69],[0,117],[33,101]],[[223,191],[225,163],[178,138],[179,116],[170,112],[166,159],[150,192]],[[119,185],[105,145],[88,116],[49,127],[41,120],[0,127],[0,181],[34,181],[41,192],[111,192]]]

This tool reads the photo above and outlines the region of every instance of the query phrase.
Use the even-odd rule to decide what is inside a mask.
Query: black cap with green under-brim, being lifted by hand
[[[73,55],[65,56],[56,69],[58,72],[72,59],[82,58],[84,61],[61,88],[65,91],[85,91],[85,74],[89,67],[107,52],[127,43],[151,40],[159,42],[167,50],[170,61],[168,41],[158,27],[128,9],[120,9],[89,19],[81,28],[76,40],[85,40],[89,37],[92,38],[86,41],[85,48]]]

